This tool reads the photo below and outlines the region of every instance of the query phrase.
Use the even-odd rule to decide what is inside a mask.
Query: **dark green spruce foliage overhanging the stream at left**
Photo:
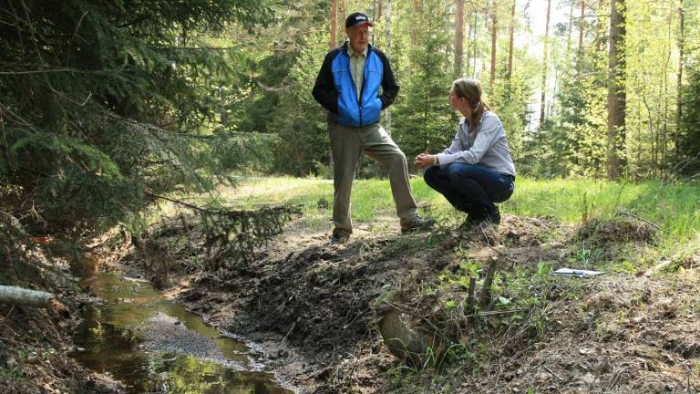
[[[265,0],[0,0],[0,210],[79,236],[211,190],[245,157],[211,127],[237,52],[194,37],[271,18]]]

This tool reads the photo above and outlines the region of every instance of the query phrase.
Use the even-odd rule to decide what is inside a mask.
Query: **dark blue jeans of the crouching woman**
[[[444,168],[429,167],[423,178],[455,208],[476,220],[500,218],[494,202],[505,202],[515,190],[514,177],[478,164],[453,162]]]

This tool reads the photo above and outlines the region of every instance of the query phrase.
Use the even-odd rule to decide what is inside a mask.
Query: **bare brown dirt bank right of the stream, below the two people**
[[[168,292],[214,326],[261,344],[268,365],[304,392],[695,392],[695,270],[549,275],[582,264],[608,270],[625,251],[655,241],[643,223],[591,226],[508,215],[496,229],[468,233],[374,233],[365,225],[336,245],[292,224],[232,269],[209,272],[170,249]],[[125,260],[139,269],[143,261]],[[490,263],[498,270],[489,303],[459,315],[468,293],[461,278]],[[443,341],[426,368],[403,367],[376,330],[373,302],[386,294],[409,325],[453,341],[449,351]]]

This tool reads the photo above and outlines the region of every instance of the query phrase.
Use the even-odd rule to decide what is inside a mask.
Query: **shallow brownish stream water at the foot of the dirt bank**
[[[78,361],[129,393],[287,394],[254,352],[165,299],[148,282],[98,274],[81,282],[100,298],[74,341]]]

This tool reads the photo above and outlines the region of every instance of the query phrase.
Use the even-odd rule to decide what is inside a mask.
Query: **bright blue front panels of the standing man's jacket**
[[[345,126],[361,127],[375,124],[382,112],[382,100],[379,88],[382,85],[384,65],[374,48],[367,50],[365,61],[365,80],[362,84],[361,99],[357,99],[355,82],[350,73],[350,57],[341,50],[331,65],[335,88],[338,91],[338,122]]]

